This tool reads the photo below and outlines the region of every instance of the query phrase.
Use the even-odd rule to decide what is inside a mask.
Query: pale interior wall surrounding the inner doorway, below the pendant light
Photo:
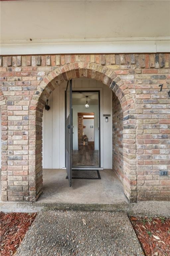
[[[78,150],[78,112],[94,112],[94,136],[95,136],[95,150],[99,150],[99,110],[98,105],[91,105],[88,109],[86,109],[82,105],[73,105],[73,150]]]

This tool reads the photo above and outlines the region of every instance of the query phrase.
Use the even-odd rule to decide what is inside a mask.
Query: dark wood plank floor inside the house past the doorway
[[[79,150],[73,150],[72,165],[98,166],[99,150],[94,150],[94,145],[78,146]]]

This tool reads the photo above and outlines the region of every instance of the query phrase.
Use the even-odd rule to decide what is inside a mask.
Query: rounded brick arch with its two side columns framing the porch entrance
[[[30,201],[35,201],[42,193],[42,112],[51,92],[64,81],[87,77],[109,86],[118,97],[123,110],[124,191],[130,201],[135,202],[136,192],[136,152],[129,145],[135,144],[135,105],[130,91],[114,71],[90,62],[66,64],[44,76],[34,93],[29,111],[29,193]],[[131,136],[130,136],[131,135]]]

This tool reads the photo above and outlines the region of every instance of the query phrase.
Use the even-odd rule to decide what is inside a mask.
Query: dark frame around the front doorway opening
[[[72,93],[82,93],[82,92],[97,92],[98,93],[98,109],[99,109],[99,165],[98,166],[72,166],[73,168],[100,168],[101,167],[101,142],[100,142],[100,136],[101,136],[101,132],[100,132],[100,90],[74,90],[74,88],[72,88]],[[66,98],[65,98],[66,100]]]

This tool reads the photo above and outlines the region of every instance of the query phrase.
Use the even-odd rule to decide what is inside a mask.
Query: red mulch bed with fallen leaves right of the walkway
[[[146,256],[170,256],[170,219],[130,217]]]

